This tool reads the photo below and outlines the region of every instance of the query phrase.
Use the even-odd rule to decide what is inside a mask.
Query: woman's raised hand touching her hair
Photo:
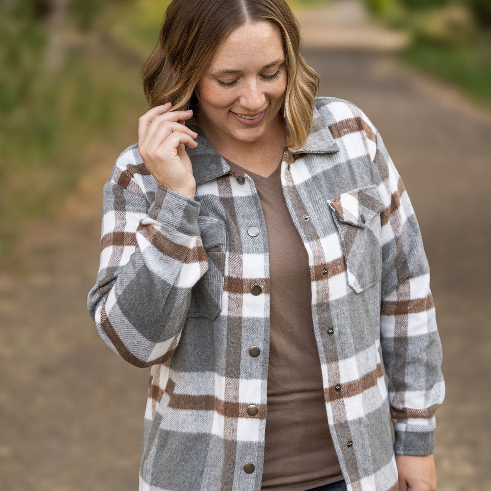
[[[185,145],[195,148],[197,133],[185,126],[192,110],[170,111],[156,106],[138,120],[138,153],[157,184],[194,198],[196,182]]]

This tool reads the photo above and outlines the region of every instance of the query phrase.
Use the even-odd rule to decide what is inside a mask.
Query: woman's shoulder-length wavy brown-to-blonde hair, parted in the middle
[[[301,148],[312,127],[319,74],[300,53],[300,26],[285,0],[173,0],[159,39],[142,66],[148,107],[171,102],[186,109],[218,45],[246,22],[270,21],[280,28],[288,82],[283,103],[287,146]]]

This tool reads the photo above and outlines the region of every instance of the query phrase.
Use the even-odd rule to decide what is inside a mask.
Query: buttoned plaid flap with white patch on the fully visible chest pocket
[[[343,192],[327,202],[340,221],[360,228],[366,228],[385,208],[375,184]]]

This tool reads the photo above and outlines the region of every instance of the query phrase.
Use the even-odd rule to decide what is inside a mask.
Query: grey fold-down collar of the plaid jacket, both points
[[[191,160],[192,173],[196,184],[202,184],[228,174],[230,165],[227,164],[225,159],[218,154],[203,135],[196,118],[193,116],[187,123],[187,126],[198,134],[195,140],[198,146],[196,148],[186,148],[186,153]],[[329,127],[325,124],[320,111],[314,108],[312,129],[307,136],[307,141],[302,148],[294,150],[292,152],[293,155],[333,153],[339,150],[339,145],[334,141],[334,137],[329,131]]]

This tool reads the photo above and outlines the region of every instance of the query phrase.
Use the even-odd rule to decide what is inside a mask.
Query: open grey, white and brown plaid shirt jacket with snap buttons
[[[158,186],[137,145],[116,160],[88,307],[112,350],[151,366],[139,489],[259,491],[267,231],[252,179],[231,172],[202,134],[196,141],[194,200]],[[444,397],[408,194],[372,122],[335,97],[317,99],[306,144],[285,151],[281,185],[308,253],[327,421],[348,490],[398,490],[394,452],[432,453]]]

